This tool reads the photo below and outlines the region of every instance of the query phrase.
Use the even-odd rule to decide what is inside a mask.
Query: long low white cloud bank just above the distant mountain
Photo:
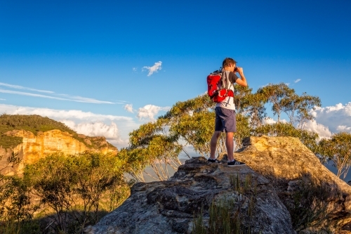
[[[65,123],[79,134],[105,136],[107,141],[117,148],[126,147],[128,145],[128,134],[140,126],[131,117],[100,115],[81,110],[54,110],[0,104],[0,114],[3,113],[8,115],[41,115],[49,117]]]

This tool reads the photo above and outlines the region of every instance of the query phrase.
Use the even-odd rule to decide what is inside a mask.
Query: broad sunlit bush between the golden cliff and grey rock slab
[[[121,161],[112,154],[56,153],[27,166],[24,178],[41,204],[53,209],[53,230],[62,233],[72,233],[73,226],[80,233],[98,221],[100,207],[114,209],[129,193]]]

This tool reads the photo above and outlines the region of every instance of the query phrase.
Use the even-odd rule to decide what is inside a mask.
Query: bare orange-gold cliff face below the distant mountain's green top
[[[81,141],[73,138],[71,134],[60,130],[51,130],[37,133],[37,136],[30,131],[13,130],[6,132],[8,136],[22,137],[22,143],[15,148],[4,149],[0,146],[0,168],[7,164],[7,159],[11,156],[12,151],[18,153],[22,160],[15,167],[9,167],[1,171],[5,175],[22,174],[26,164],[37,162],[41,157],[50,155],[54,152],[63,152],[67,155],[74,155],[79,152],[112,152],[117,154],[117,148],[107,143],[104,137],[88,137],[79,135]],[[84,141],[85,143],[83,143]]]

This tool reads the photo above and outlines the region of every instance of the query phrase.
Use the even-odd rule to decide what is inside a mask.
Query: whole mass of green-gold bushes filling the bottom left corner
[[[0,171],[18,163],[13,152]],[[46,217],[51,219],[46,233],[81,233],[128,197],[123,168],[112,154],[55,153],[28,165],[22,178],[0,174],[0,233],[44,233],[34,219],[44,207],[55,212]]]

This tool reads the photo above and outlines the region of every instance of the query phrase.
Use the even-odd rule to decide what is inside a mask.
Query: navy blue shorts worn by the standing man
[[[237,132],[235,110],[217,107],[215,112],[215,131]]]

